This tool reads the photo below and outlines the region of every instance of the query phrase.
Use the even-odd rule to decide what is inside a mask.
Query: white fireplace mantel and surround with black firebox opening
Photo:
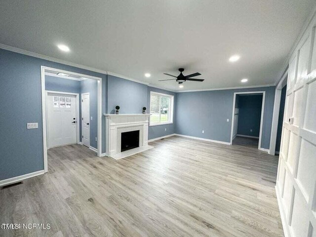
[[[115,159],[153,148],[148,146],[148,124],[150,114],[104,114],[106,118],[106,155]],[[121,152],[121,133],[139,130],[139,147]]]

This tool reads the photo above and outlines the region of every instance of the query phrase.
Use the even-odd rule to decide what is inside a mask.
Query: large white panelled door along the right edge
[[[286,237],[316,236],[316,51],[314,25],[289,62],[276,195]]]

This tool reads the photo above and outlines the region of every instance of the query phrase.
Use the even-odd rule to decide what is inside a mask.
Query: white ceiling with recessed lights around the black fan
[[[0,43],[172,90],[275,83],[315,0],[3,0]],[[61,52],[56,44],[68,45]],[[233,54],[240,60],[228,62]],[[179,89],[163,73],[199,72]],[[145,78],[144,73],[151,73]],[[240,79],[248,78],[247,83]]]

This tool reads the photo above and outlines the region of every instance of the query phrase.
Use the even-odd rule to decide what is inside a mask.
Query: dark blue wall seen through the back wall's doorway
[[[259,137],[262,95],[239,95],[237,134]],[[252,132],[250,131],[252,129]]]

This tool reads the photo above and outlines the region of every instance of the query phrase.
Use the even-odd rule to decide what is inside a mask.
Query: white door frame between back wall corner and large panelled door
[[[288,69],[283,74],[282,78],[276,85],[276,94],[275,94],[275,104],[273,107],[273,118],[271,126],[271,137],[270,137],[270,155],[276,155],[276,135],[277,135],[277,125],[278,125],[278,116],[280,112],[280,102],[281,102],[281,92],[282,88],[286,85],[288,76]]]

